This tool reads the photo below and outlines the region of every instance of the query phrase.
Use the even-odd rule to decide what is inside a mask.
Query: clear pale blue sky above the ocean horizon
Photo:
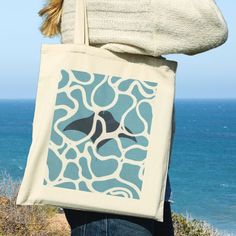
[[[227,42],[194,56],[167,55],[176,60],[176,98],[236,98],[236,1],[217,0],[229,29]],[[0,9],[0,99],[35,99],[40,48],[60,43],[40,31],[37,12],[44,1],[2,1]]]

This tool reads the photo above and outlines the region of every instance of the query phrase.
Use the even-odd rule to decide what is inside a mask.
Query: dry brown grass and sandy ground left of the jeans
[[[20,182],[6,172],[0,174],[0,236],[69,235],[64,214],[53,206],[17,206]]]

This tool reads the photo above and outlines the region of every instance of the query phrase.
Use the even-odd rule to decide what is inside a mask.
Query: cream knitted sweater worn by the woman
[[[73,43],[75,1],[64,0],[61,42]],[[194,55],[223,44],[214,0],[86,0],[89,44],[115,52]]]

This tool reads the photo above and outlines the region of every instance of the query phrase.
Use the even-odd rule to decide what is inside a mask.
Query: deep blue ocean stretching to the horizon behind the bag
[[[0,171],[22,179],[35,100],[0,100]],[[176,99],[172,210],[236,235],[236,100]]]

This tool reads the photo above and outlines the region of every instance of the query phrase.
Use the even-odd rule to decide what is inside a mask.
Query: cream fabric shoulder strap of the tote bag
[[[89,45],[86,0],[75,0],[74,44]]]

